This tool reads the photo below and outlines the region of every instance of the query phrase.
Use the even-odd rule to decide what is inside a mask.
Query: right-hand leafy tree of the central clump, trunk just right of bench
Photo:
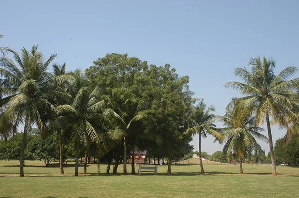
[[[190,138],[181,138],[189,126],[190,106],[193,104],[192,92],[188,89],[187,76],[178,78],[169,64],[163,67],[150,65],[139,74],[137,85],[142,90],[141,104],[147,118],[143,121],[145,131],[154,132],[162,138],[162,144],[151,144],[149,150],[156,150],[167,157],[167,174],[171,175],[173,157],[182,157],[190,152]]]

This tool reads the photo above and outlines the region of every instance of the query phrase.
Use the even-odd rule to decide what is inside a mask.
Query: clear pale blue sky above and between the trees
[[[219,115],[240,96],[223,85],[240,81],[233,70],[251,56],[274,57],[277,73],[299,66],[298,0],[0,0],[0,7],[0,46],[38,44],[67,70],[113,52],[169,63]],[[274,141],[285,133],[274,126]],[[198,150],[198,136],[191,143]],[[203,140],[202,151],[221,149],[213,138]]]

